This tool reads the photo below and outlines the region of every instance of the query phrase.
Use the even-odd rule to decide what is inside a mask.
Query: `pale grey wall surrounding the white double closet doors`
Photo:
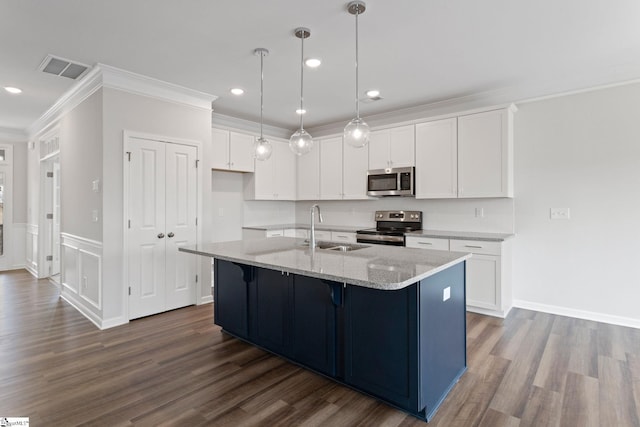
[[[103,251],[104,251],[104,318],[115,319],[125,316],[123,284],[123,131],[161,135],[175,139],[200,141],[200,167],[211,170],[211,111],[204,108],[185,106],[121,90],[103,89]],[[203,179],[200,192],[203,197],[202,236],[212,234],[211,198],[212,181]],[[198,299],[210,295],[211,268],[202,263],[203,284]]]

